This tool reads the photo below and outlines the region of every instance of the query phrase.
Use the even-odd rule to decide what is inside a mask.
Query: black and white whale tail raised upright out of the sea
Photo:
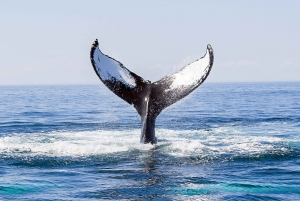
[[[143,79],[121,62],[103,54],[97,39],[92,44],[90,59],[104,85],[132,105],[141,117],[140,142],[156,144],[157,116],[163,109],[186,97],[206,80],[213,66],[214,54],[211,45],[208,44],[203,57],[156,82]]]

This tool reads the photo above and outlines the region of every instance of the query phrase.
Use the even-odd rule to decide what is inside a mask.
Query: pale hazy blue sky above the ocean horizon
[[[300,1],[0,0],[0,85],[99,84],[97,38],[157,81],[214,49],[206,82],[300,81]]]

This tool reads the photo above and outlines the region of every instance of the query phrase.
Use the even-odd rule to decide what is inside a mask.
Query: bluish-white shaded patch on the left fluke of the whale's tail
[[[102,54],[99,48],[94,51],[94,62],[102,80],[116,79],[130,88],[136,86],[135,79],[130,75],[130,72],[116,60]]]

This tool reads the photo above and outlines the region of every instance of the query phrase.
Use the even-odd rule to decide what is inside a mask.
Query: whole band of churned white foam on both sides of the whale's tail
[[[230,127],[211,131],[157,129],[156,133],[156,146],[164,145],[160,151],[176,157],[214,158],[223,154],[241,156],[273,151],[285,153],[288,151],[288,143],[299,144],[300,141],[274,136],[251,136],[240,129]],[[93,156],[132,150],[147,151],[154,147],[150,144],[140,144],[139,137],[139,129],[11,134],[0,138],[0,154]]]

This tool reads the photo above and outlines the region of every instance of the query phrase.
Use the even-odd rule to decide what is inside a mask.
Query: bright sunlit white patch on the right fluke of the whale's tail
[[[179,72],[173,74],[171,79],[173,82],[168,90],[179,88],[181,86],[196,85],[197,82],[209,71],[210,53],[206,50],[205,57],[187,65]]]

